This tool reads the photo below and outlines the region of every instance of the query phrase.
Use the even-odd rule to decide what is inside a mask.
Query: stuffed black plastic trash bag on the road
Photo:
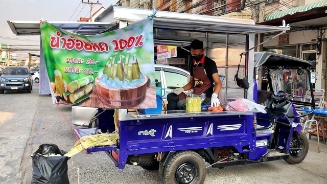
[[[67,173],[69,157],[63,156],[66,153],[55,144],[40,145],[39,149],[31,155],[33,167],[31,183],[69,184]],[[60,154],[61,156],[43,156],[50,154]]]

